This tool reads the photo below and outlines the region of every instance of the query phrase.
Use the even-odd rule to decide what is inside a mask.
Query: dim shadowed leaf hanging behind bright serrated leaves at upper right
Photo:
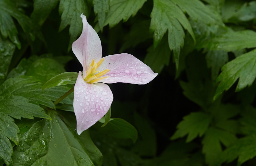
[[[207,67],[211,68],[212,79],[215,80],[220,68],[229,60],[228,53],[225,51],[208,51],[206,54]]]

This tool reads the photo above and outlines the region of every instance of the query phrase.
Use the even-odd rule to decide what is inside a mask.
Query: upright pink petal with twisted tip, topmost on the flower
[[[83,31],[81,36],[73,42],[72,51],[82,64],[84,71],[88,69],[93,59],[97,63],[101,59],[101,40],[98,34],[86,21],[86,16],[81,14]]]

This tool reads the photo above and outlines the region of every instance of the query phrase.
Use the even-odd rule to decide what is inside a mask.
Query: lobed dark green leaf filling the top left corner
[[[28,32],[31,29],[31,21],[27,15],[21,13],[12,1],[0,0],[0,32],[4,38],[8,36],[20,49],[21,44],[17,37],[18,32],[11,16],[18,21],[24,32]]]

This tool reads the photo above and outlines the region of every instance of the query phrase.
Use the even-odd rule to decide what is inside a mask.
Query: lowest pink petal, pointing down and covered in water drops
[[[77,133],[94,125],[109,110],[113,94],[109,86],[103,83],[88,84],[79,75],[74,88],[74,111],[77,119]]]

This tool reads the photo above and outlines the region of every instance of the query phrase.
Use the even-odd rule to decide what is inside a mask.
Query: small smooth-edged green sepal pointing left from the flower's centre
[[[48,80],[42,87],[42,90],[60,85],[75,84],[77,80],[77,72],[65,72],[54,76]]]

